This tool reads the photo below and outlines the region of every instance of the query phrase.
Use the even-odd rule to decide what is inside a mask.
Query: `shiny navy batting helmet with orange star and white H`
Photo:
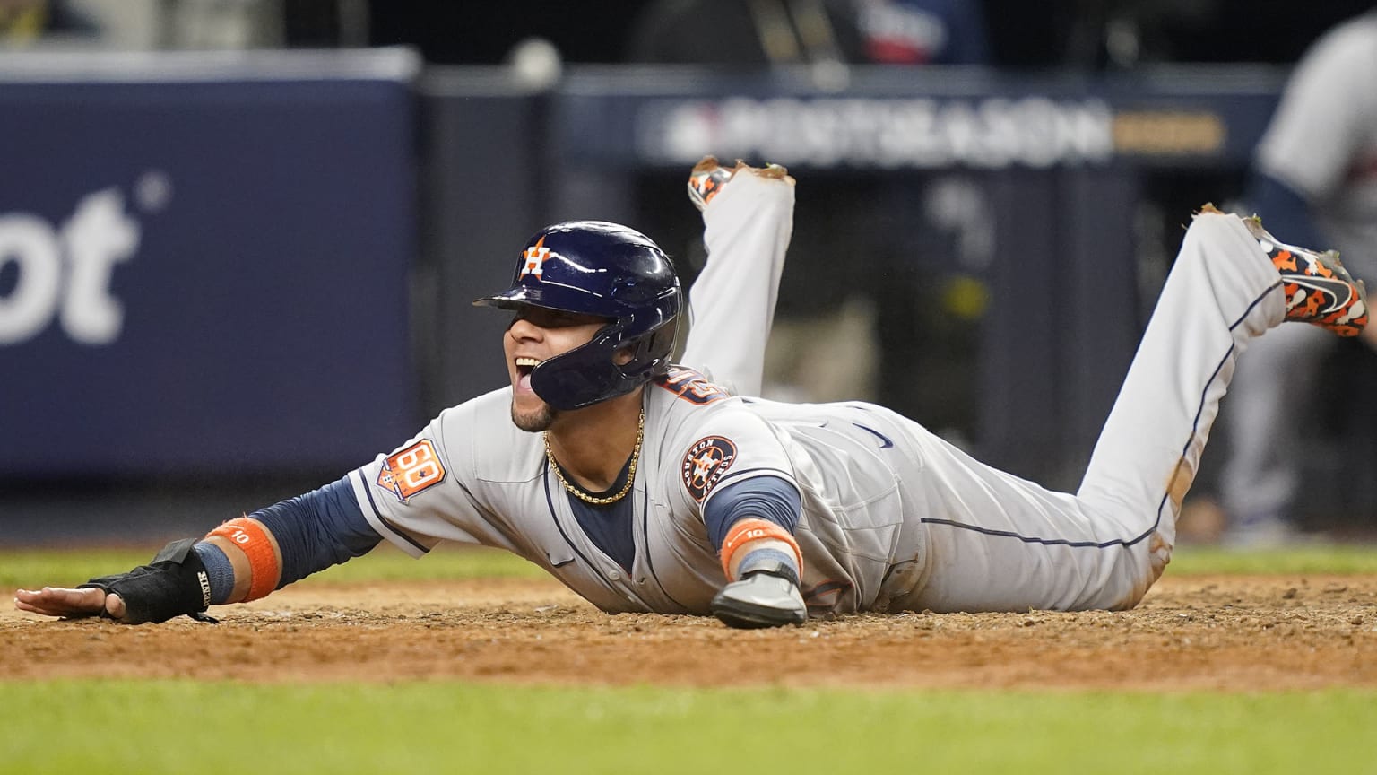
[[[587,345],[534,368],[530,386],[556,410],[624,396],[669,368],[683,291],[669,258],[650,237],[605,221],[541,229],[516,262],[512,287],[474,302],[532,305],[611,319]],[[629,352],[618,364],[614,356]]]

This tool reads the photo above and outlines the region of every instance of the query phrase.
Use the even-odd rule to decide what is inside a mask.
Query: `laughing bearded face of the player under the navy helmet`
[[[541,361],[587,345],[607,325],[606,317],[560,312],[538,306],[522,308],[503,336],[507,372],[512,381],[512,422],[527,432],[549,427],[555,410],[530,389],[530,372]]]

